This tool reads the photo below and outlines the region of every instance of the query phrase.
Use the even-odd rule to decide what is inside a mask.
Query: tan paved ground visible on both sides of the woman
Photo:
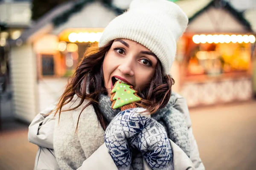
[[[190,109],[192,127],[207,170],[256,169],[256,101]],[[0,170],[32,170],[38,149],[27,125],[9,119],[0,132]]]

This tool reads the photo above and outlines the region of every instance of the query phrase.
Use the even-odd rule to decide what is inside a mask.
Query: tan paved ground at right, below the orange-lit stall
[[[190,110],[207,170],[256,169],[256,101]]]

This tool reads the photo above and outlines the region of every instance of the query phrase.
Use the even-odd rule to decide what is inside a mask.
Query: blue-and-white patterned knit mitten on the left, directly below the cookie
[[[133,108],[119,112],[108,125],[105,132],[105,143],[110,155],[119,170],[129,170],[131,152],[127,139],[140,133],[150,119],[142,115],[143,108]]]

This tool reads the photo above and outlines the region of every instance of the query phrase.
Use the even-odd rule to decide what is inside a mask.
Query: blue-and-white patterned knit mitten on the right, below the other
[[[153,170],[174,170],[171,143],[165,128],[156,120],[149,119],[143,130],[128,143],[142,152]]]

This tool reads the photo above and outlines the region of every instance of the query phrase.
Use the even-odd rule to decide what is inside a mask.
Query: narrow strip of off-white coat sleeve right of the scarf
[[[179,94],[175,94],[175,95],[177,96],[177,99],[176,99],[173,107],[184,114],[184,117],[186,120],[186,125],[188,126],[188,133],[189,133],[190,146],[191,146],[190,159],[191,159],[192,163],[194,164],[196,170],[205,170],[204,164],[201,161],[200,156],[199,156],[198,145],[197,145],[197,143],[195,141],[195,137],[192,133],[192,123],[191,123],[191,119],[189,116],[189,109],[186,104],[186,100]]]

